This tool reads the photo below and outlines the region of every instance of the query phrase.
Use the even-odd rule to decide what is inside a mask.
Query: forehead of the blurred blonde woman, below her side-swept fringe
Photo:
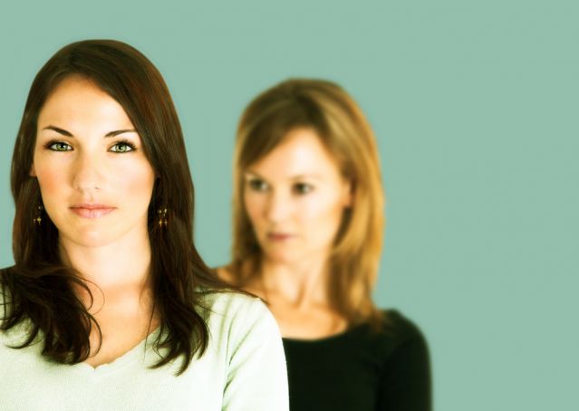
[[[277,147],[247,169],[265,178],[340,175],[335,158],[313,129],[290,131]]]

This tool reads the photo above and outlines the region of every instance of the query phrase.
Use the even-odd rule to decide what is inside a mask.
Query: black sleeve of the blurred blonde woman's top
[[[380,411],[431,411],[429,350],[426,339],[410,321],[391,352],[381,376]]]

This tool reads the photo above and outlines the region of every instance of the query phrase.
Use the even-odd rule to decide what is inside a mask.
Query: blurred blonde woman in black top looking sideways
[[[321,80],[258,95],[237,128],[234,185],[233,258],[219,272],[274,313],[292,411],[429,410],[425,339],[372,301],[384,196],[352,98]]]

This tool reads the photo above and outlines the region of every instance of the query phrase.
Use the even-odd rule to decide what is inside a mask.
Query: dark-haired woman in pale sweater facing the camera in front
[[[130,45],[65,46],[36,75],[12,161],[0,408],[284,410],[275,320],[193,244],[179,119]]]

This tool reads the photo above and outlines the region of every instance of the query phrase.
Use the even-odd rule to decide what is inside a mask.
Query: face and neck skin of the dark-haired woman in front
[[[159,325],[152,312],[147,210],[155,172],[121,105],[93,82],[63,80],[39,113],[31,177],[59,231],[64,263],[101,326],[92,330],[92,367],[121,357]],[[45,224],[43,222],[43,224]]]

